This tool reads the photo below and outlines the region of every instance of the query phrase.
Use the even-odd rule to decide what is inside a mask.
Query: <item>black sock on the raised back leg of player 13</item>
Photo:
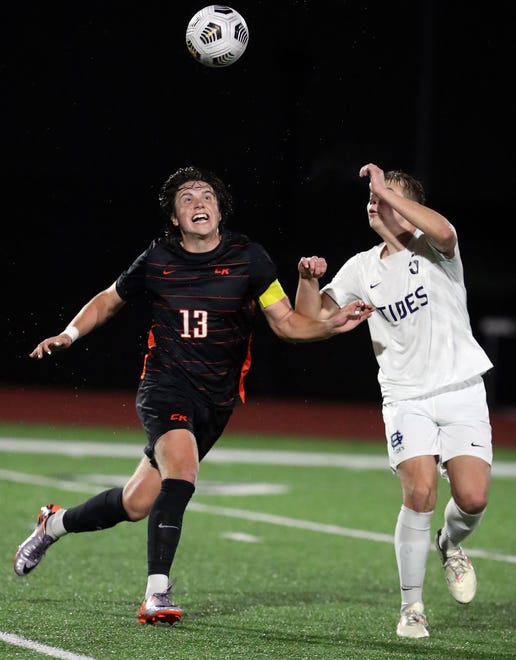
[[[63,525],[67,532],[95,532],[128,520],[122,506],[122,488],[105,490],[67,509],[63,515]]]

